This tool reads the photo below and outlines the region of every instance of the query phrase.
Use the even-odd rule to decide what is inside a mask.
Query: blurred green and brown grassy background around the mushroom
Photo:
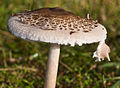
[[[97,44],[62,46],[57,88],[120,88],[120,0],[0,0],[0,88],[43,88],[49,44],[13,36],[7,20],[25,9],[55,6],[103,24],[112,60],[94,62]]]

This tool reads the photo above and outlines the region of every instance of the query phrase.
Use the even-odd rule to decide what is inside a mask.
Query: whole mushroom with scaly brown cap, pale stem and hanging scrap
[[[104,57],[110,61],[110,49],[105,44],[107,31],[89,16],[84,19],[58,7],[40,8],[12,14],[8,29],[25,40],[51,43],[44,88],[55,88],[60,45],[82,46],[99,42],[93,57],[97,58],[96,61]]]

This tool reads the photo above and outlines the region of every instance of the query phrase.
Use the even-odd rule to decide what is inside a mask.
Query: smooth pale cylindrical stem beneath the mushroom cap
[[[46,72],[44,88],[55,88],[57,71],[58,71],[59,54],[60,54],[60,45],[51,44],[48,62],[47,62],[47,72]]]

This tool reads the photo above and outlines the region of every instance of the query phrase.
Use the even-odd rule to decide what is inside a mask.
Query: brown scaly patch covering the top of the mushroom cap
[[[64,9],[55,8],[41,8],[33,11],[24,11],[23,13],[12,14],[18,16],[22,23],[31,26],[42,26],[44,30],[74,30],[89,32],[97,27],[98,22],[91,19],[83,19],[74,13],[65,11]],[[49,25],[49,26],[48,26]],[[56,27],[55,27],[56,26]],[[92,27],[94,26],[94,27]],[[47,27],[47,28],[46,28]],[[85,30],[85,29],[89,30]]]

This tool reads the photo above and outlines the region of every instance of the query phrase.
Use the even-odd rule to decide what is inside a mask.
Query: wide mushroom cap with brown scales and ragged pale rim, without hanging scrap
[[[58,7],[13,14],[8,20],[8,29],[22,39],[71,46],[104,41],[107,34],[97,21]]]

